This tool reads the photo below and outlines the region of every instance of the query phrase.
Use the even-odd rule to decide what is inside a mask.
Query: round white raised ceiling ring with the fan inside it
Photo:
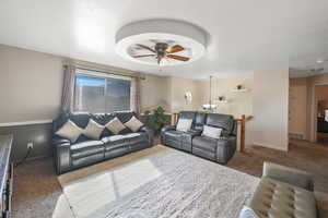
[[[180,21],[136,22],[116,34],[116,52],[126,60],[142,64],[186,64],[201,58],[204,51],[206,33]]]

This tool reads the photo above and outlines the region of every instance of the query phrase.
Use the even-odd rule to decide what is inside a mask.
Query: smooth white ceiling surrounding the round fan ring
[[[327,0],[0,0],[0,44],[147,73],[204,78],[257,70],[320,68],[328,59]],[[142,65],[115,53],[115,34],[148,19],[203,28],[206,56],[179,66]]]

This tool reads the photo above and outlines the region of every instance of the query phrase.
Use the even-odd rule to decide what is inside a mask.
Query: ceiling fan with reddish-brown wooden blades
[[[179,45],[168,46],[168,44],[165,44],[165,43],[156,43],[154,49],[149,46],[141,45],[141,44],[137,44],[137,46],[141,49],[149,50],[152,53],[132,56],[133,58],[154,57],[157,60],[159,64],[161,63],[161,61],[163,59],[175,59],[178,61],[188,61],[189,60],[189,58],[187,58],[187,57],[173,55],[173,53],[185,50],[185,48]]]

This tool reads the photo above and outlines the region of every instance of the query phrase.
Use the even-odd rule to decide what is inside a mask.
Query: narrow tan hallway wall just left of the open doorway
[[[289,133],[301,134],[304,138],[307,138],[307,86],[306,77],[290,80]]]

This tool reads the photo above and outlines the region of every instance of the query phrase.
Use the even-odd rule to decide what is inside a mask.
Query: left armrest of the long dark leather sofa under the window
[[[55,136],[52,145],[57,174],[69,171],[71,168],[71,142],[67,138]]]

